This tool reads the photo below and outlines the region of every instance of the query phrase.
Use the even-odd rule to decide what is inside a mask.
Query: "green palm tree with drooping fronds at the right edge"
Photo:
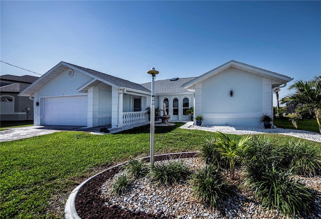
[[[295,109],[294,116],[291,118],[293,126],[297,128],[296,122],[302,119],[304,114],[314,113],[321,133],[321,76],[314,76],[308,81],[295,81],[288,89],[293,88],[296,89],[295,93],[281,99],[281,103],[291,101],[294,105],[302,104]]]

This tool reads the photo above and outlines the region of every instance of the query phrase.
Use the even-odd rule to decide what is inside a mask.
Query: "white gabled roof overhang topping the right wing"
[[[259,67],[253,66],[253,65],[245,64],[245,63],[242,63],[239,61],[230,60],[230,61],[196,77],[195,79],[183,84],[183,87],[185,89],[187,89],[187,88],[195,85],[196,83],[199,83],[199,82],[201,82],[211,76],[214,76],[214,75],[216,75],[216,74],[218,74],[218,73],[220,73],[230,67],[234,67],[234,68],[237,68],[237,69],[249,72],[249,73],[253,73],[253,74],[256,74],[256,75],[259,75],[262,77],[270,78],[273,81],[275,81],[275,86],[281,85],[283,83],[287,83],[293,79],[293,78],[288,77],[283,74],[279,74],[279,73],[276,73],[273,71],[265,70],[263,68],[259,68]]]

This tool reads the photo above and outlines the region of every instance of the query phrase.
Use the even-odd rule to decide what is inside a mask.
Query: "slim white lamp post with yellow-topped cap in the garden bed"
[[[152,67],[147,71],[148,74],[151,74],[151,101],[150,101],[150,172],[152,167],[154,167],[154,134],[155,134],[155,100],[154,100],[154,79],[155,75],[159,71],[155,70]]]

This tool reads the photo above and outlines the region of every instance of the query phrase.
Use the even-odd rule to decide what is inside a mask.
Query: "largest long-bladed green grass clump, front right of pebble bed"
[[[306,155],[298,158],[298,154],[293,152],[299,151],[296,147],[304,151],[301,148],[303,144],[298,141],[279,148],[265,137],[253,137],[248,143],[249,149],[243,161],[247,173],[244,184],[255,192],[261,206],[289,216],[313,214],[316,194],[293,179],[292,170],[297,173],[299,169],[305,169],[299,163],[307,162]],[[308,148],[307,145],[304,147]]]

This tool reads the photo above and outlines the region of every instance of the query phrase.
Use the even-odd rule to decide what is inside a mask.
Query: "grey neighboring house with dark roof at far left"
[[[38,78],[31,75],[5,74],[0,76],[1,121],[34,119],[33,99],[18,94]]]

